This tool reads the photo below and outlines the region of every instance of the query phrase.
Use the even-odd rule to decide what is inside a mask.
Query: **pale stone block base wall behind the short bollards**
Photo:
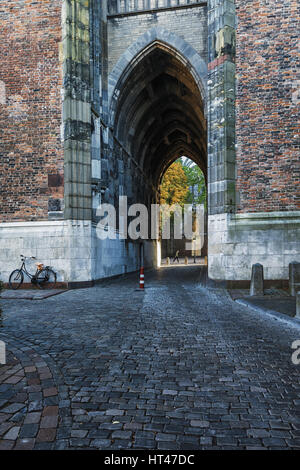
[[[266,280],[287,280],[300,261],[300,212],[216,214],[209,217],[208,262],[212,279],[250,281],[255,263]]]

